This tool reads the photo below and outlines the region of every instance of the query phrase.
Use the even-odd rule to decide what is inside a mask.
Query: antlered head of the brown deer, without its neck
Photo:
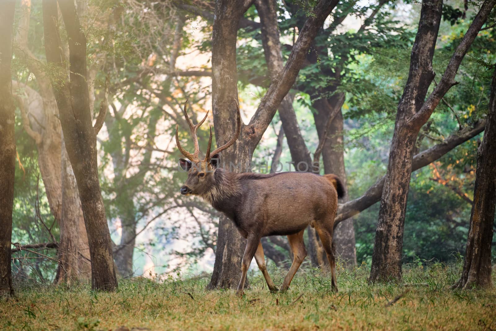
[[[186,101],[187,103],[187,101]],[[212,128],[210,127],[210,137],[208,138],[207,151],[205,153],[205,158],[200,160],[198,158],[199,147],[198,147],[198,137],[196,136],[196,131],[205,122],[208,112],[198,124],[193,125],[186,112],[186,103],[184,107],[184,114],[187,124],[189,125],[189,130],[191,131],[191,137],[194,143],[194,153],[189,153],[186,149],[181,146],[178,136],[178,125],[176,125],[176,144],[178,145],[181,153],[187,158],[179,159],[179,165],[185,171],[187,171],[187,179],[183,187],[181,188],[182,195],[204,195],[206,194],[214,184],[214,173],[215,169],[219,165],[219,153],[226,148],[229,148],[236,139],[238,139],[241,132],[241,114],[240,106],[236,103],[237,108],[237,128],[234,136],[225,145],[220,146],[214,151],[210,151],[212,145]]]

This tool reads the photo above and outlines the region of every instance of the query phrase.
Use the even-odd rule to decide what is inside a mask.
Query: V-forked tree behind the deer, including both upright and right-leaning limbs
[[[212,110],[217,143],[223,144],[235,132],[238,100],[236,38],[241,16],[252,1],[216,2],[212,32]],[[222,162],[249,170],[253,150],[270,124],[281,101],[293,86],[312,40],[338,1],[320,0],[300,31],[286,65],[273,79],[248,125],[242,125],[238,141],[226,151]],[[215,264],[208,288],[234,287],[241,276],[241,260],[246,240],[226,217],[219,221]],[[229,251],[228,251],[229,250]]]

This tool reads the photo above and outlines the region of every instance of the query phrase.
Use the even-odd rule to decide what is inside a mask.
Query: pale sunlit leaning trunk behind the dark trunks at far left
[[[19,31],[16,42],[20,52],[16,54],[23,59],[28,68],[35,74],[39,93],[27,85],[15,82],[14,90],[19,90],[19,107],[23,117],[23,127],[35,140],[38,149],[38,165],[45,186],[50,210],[61,229],[61,247],[58,252],[62,264],[72,265],[71,272],[76,272],[78,279],[89,279],[91,277],[91,265],[89,264],[89,246],[84,217],[77,192],[76,180],[68,161],[67,152],[62,148],[62,129],[58,119],[59,109],[55,100],[54,91],[45,68],[35,58],[28,47],[28,36],[31,12],[31,1],[21,1],[21,17],[19,19]],[[22,93],[23,92],[23,93]],[[36,119],[36,120],[34,120]],[[65,169],[62,164],[68,164]],[[63,170],[62,170],[63,169]],[[67,173],[67,171],[69,171]],[[67,177],[71,176],[71,178]],[[62,178],[64,177],[64,178]],[[65,180],[64,180],[65,179]],[[76,205],[68,204],[64,197],[74,196],[72,201]],[[67,206],[67,210],[62,210]],[[69,213],[70,211],[70,213]],[[63,214],[63,215],[62,215]],[[63,224],[66,223],[66,224]],[[67,233],[64,233],[67,231]],[[73,243],[64,243],[64,240]],[[74,246],[75,245],[75,246]],[[65,254],[69,247],[75,247],[76,254]],[[60,266],[59,266],[60,268]],[[69,278],[73,275],[69,272]],[[57,273],[55,282],[64,282],[65,273]],[[73,280],[73,279],[72,279]]]

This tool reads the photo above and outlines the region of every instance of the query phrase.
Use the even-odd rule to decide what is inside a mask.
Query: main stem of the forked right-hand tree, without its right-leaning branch
[[[412,48],[410,74],[398,105],[386,180],[375,232],[370,281],[401,279],[405,209],[418,124],[409,121],[422,107],[434,79],[432,59],[441,21],[442,0],[424,0]]]

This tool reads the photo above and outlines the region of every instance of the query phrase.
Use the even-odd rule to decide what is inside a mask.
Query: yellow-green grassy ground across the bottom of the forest
[[[284,271],[269,270],[276,284]],[[208,277],[139,277],[120,281],[115,293],[31,286],[0,301],[0,330],[496,330],[496,292],[451,290],[460,271],[410,265],[401,283],[372,286],[362,265],[339,270],[332,293],[329,277],[308,267],[285,294],[270,294],[252,271],[243,298],[205,290]]]

